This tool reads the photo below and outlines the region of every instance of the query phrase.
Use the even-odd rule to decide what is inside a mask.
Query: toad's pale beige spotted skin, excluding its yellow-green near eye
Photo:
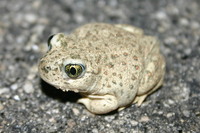
[[[165,74],[160,42],[129,25],[92,23],[72,34],[56,34],[39,63],[43,80],[63,91],[79,92],[78,102],[94,114],[139,105],[158,89]],[[83,64],[78,78],[70,78],[67,64]]]

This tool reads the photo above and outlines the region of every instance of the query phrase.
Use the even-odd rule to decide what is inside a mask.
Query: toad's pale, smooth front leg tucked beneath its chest
[[[84,104],[94,114],[109,113],[118,108],[117,98],[112,95],[88,95],[85,98],[79,99],[78,103]]]

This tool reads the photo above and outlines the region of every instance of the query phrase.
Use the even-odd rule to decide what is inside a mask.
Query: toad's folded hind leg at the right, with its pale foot
[[[141,105],[145,98],[157,90],[163,83],[165,60],[159,51],[159,41],[153,37],[144,37],[141,41],[144,47],[144,70],[134,103]]]

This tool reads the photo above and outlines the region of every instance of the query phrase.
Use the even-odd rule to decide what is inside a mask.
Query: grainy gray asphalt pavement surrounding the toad
[[[164,85],[141,107],[93,115],[80,97],[41,80],[48,36],[89,22],[131,24],[157,36]],[[199,133],[199,0],[1,0],[0,132]]]

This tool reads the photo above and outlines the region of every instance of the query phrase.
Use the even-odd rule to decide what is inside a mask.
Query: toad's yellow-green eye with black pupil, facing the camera
[[[70,78],[80,77],[85,70],[85,67],[81,64],[67,64],[65,66],[65,73]]]

